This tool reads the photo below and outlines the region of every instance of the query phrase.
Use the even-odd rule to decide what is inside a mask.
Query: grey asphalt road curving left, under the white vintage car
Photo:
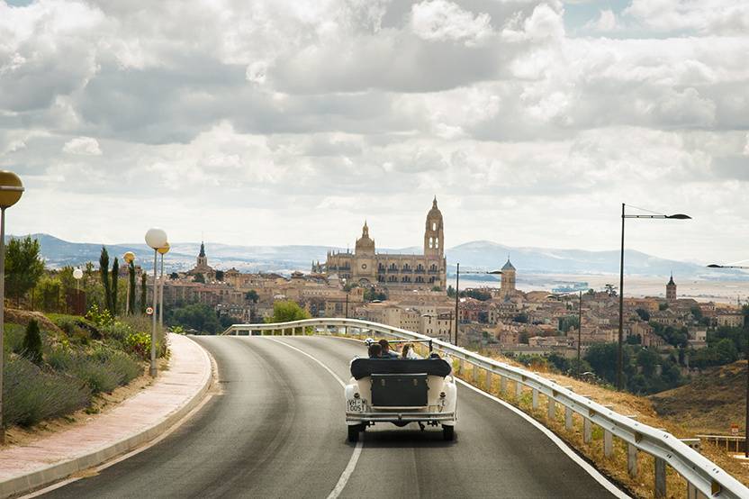
[[[327,497],[355,446],[343,389],[351,340],[197,337],[221,393],[157,445],[44,497]],[[377,425],[341,497],[610,497],[519,415],[460,386],[456,441],[438,428]]]

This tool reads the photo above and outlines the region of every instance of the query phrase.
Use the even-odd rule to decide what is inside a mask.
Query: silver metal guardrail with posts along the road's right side
[[[688,483],[688,494],[696,497],[696,492],[707,497],[746,499],[749,498],[749,488],[745,487],[733,476],[730,476],[717,464],[705,458],[688,442],[681,441],[671,433],[658,430],[634,418],[615,413],[609,407],[598,404],[583,395],[578,395],[573,390],[560,386],[555,381],[537,375],[521,367],[510,366],[493,358],[483,357],[473,351],[456,347],[447,341],[432,339],[429,336],[402,330],[377,322],[361,321],[357,319],[319,318],[306,319],[294,322],[276,322],[263,324],[234,324],[223,334],[253,334],[254,331],[304,331],[304,328],[313,328],[315,332],[319,329],[329,331],[359,330],[371,333],[392,336],[401,340],[432,340],[433,348],[443,352],[451,358],[456,358],[460,366],[467,362],[474,367],[484,369],[489,375],[500,377],[500,386],[504,387],[506,379],[516,383],[517,387],[526,386],[533,391],[533,407],[537,408],[538,394],[545,395],[548,400],[548,414],[555,416],[556,404],[565,408],[565,424],[568,429],[572,428],[572,414],[582,416],[583,440],[591,440],[591,424],[600,426],[604,431],[604,453],[610,456],[613,452],[612,438],[618,437],[627,443],[627,468],[630,475],[636,475],[636,452],[643,451],[654,457],[655,460],[655,496],[665,496],[665,467],[670,466],[679,475],[683,476]],[[478,380],[478,370],[474,369],[474,380]],[[504,378],[504,379],[503,379]],[[519,395],[520,390],[516,392]]]

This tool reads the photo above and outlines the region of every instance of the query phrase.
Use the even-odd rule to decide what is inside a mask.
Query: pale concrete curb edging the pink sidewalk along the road
[[[189,338],[186,337],[185,338]],[[50,485],[53,482],[57,482],[62,478],[66,478],[74,473],[83,471],[90,467],[95,467],[108,461],[112,458],[116,458],[126,452],[139,448],[141,445],[148,443],[150,440],[156,439],[164,431],[167,431],[176,422],[179,422],[187,413],[190,413],[198,404],[203,402],[203,398],[208,394],[208,391],[213,385],[213,366],[212,358],[210,354],[203,349],[196,341],[191,340],[195,345],[198,345],[205,362],[209,365],[208,374],[203,379],[203,386],[198,392],[193,395],[185,404],[181,407],[169,413],[166,419],[158,422],[154,426],[140,431],[134,435],[126,437],[122,440],[108,444],[102,448],[96,449],[84,456],[77,458],[68,459],[67,461],[61,461],[50,465],[49,467],[42,467],[27,473],[25,475],[13,476],[7,480],[0,482],[0,497],[10,497],[13,495],[25,494],[32,492],[35,489],[39,489],[44,485]]]

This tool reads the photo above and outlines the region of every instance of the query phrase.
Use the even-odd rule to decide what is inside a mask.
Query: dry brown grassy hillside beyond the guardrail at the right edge
[[[656,413],[696,433],[744,431],[746,361],[704,371],[684,386],[651,395]]]

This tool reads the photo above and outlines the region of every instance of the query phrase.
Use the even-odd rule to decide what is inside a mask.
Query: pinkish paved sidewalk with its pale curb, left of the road
[[[199,404],[211,386],[211,359],[185,336],[169,334],[169,344],[169,368],[152,386],[93,422],[0,451],[0,497],[50,484],[136,449]]]

